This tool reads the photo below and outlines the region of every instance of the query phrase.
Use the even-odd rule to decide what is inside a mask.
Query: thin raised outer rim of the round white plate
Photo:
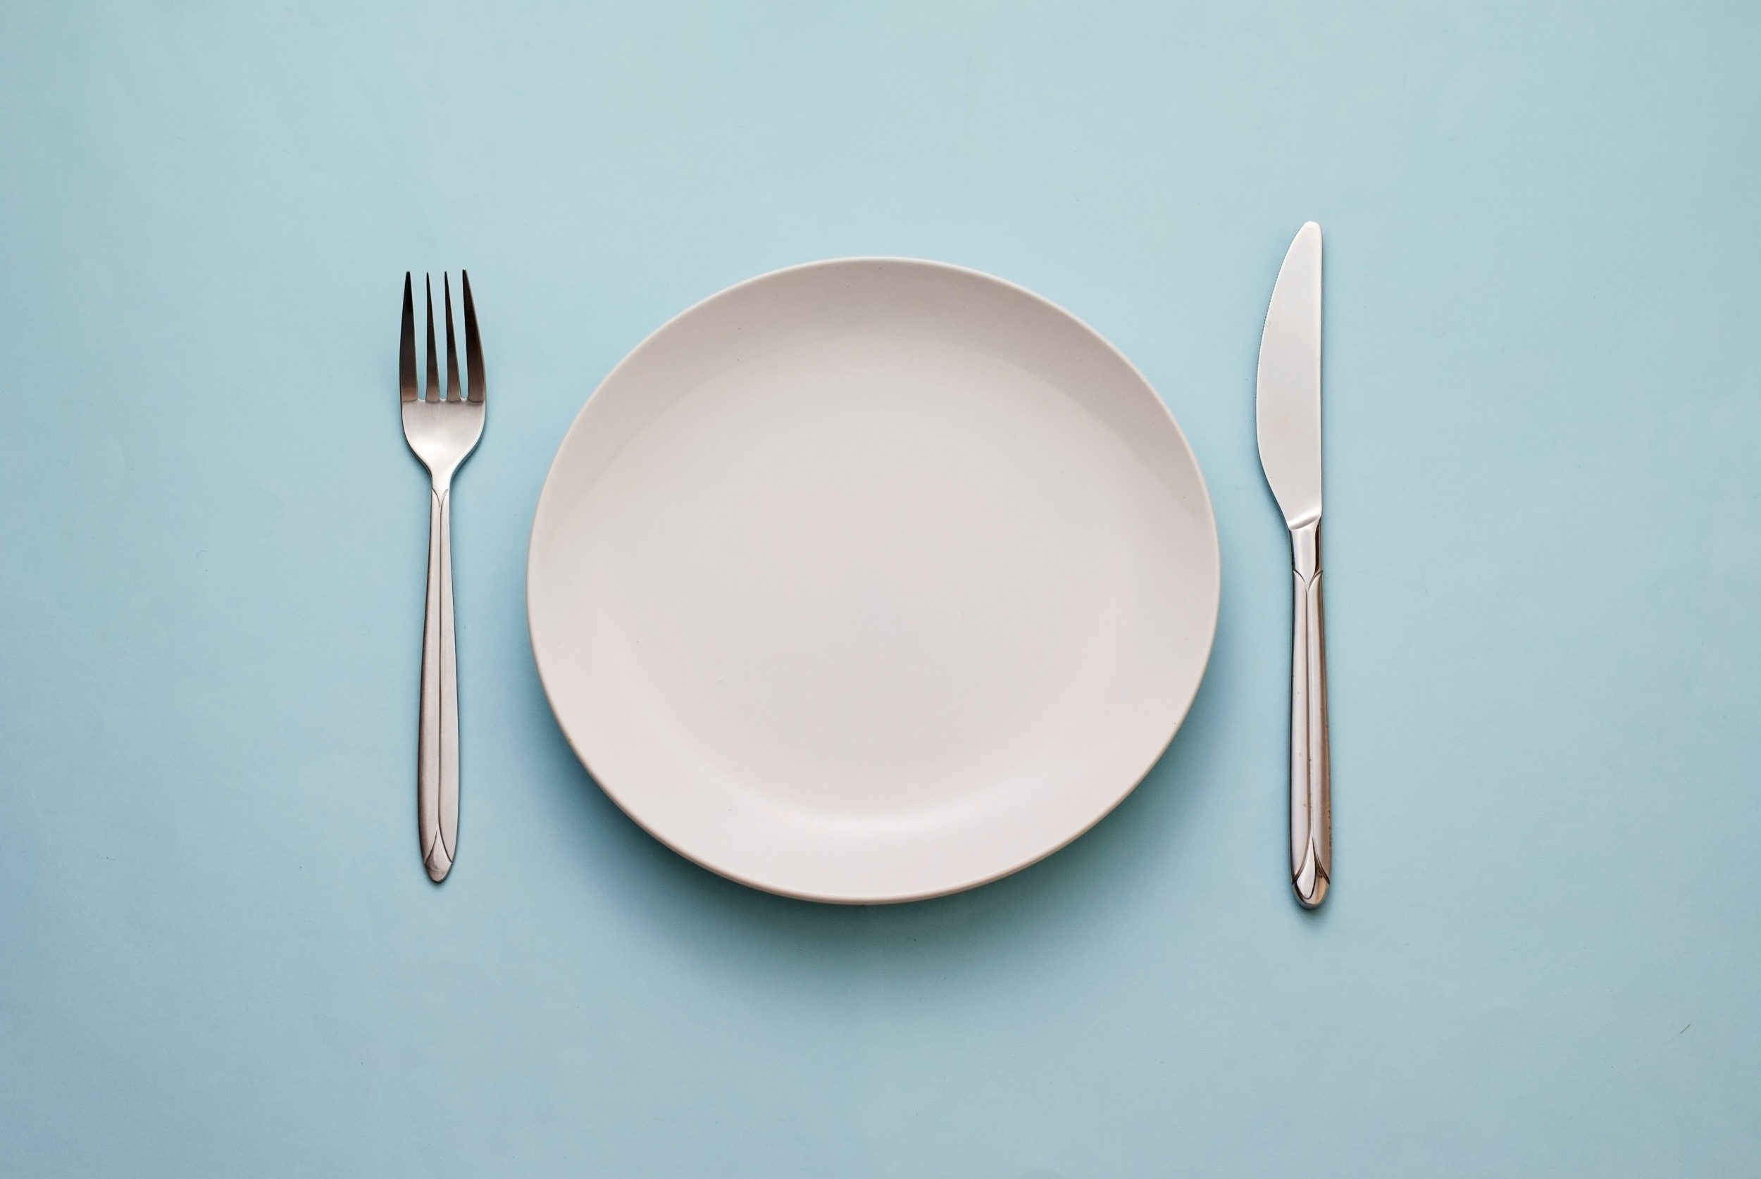
[[[1083,827],[1079,827],[1078,831],[1071,832],[1065,839],[1058,841],[1057,845],[1048,846],[1043,852],[1035,852],[1034,855],[1028,855],[1028,857],[1025,857],[1025,859],[1021,859],[1018,862],[1013,862],[1009,868],[1004,868],[1004,869],[995,871],[995,873],[986,873],[983,876],[976,876],[976,878],[967,880],[963,883],[954,883],[954,885],[949,885],[949,887],[930,889],[930,890],[925,890],[925,892],[905,892],[905,894],[889,894],[889,896],[833,896],[833,894],[817,894],[817,892],[812,892],[812,890],[799,890],[799,889],[780,887],[777,883],[763,882],[763,880],[752,878],[747,873],[741,873],[741,871],[731,869],[727,866],[717,864],[710,857],[706,857],[703,853],[697,853],[697,852],[692,852],[692,850],[687,850],[687,848],[676,845],[674,841],[671,841],[660,831],[655,831],[652,825],[648,825],[646,822],[643,822],[643,818],[636,811],[632,811],[630,806],[627,806],[622,797],[618,797],[618,792],[599,773],[593,771],[593,764],[588,760],[588,757],[581,750],[581,746],[576,744],[574,734],[569,732],[569,727],[564,723],[564,718],[562,718],[562,714],[556,709],[556,700],[555,700],[555,695],[551,693],[551,685],[549,685],[549,681],[544,676],[544,660],[539,655],[539,641],[537,641],[537,633],[534,630],[532,586],[534,586],[534,570],[535,570],[535,565],[537,565],[537,540],[539,540],[539,533],[541,533],[541,524],[546,519],[546,503],[549,502],[551,480],[553,480],[553,477],[556,473],[556,465],[562,461],[562,456],[569,449],[569,443],[574,438],[576,431],[583,428],[583,419],[586,417],[586,412],[592,408],[593,399],[608,385],[611,385],[611,382],[616,380],[618,375],[625,368],[629,368],[632,364],[632,361],[639,354],[643,354],[655,340],[659,340],[662,334],[666,334],[674,324],[685,320],[687,317],[694,315],[696,311],[699,311],[701,308],[708,306],[710,303],[715,303],[715,301],[724,299],[724,297],[731,297],[731,296],[734,296],[736,292],[740,292],[740,290],[743,290],[747,287],[754,287],[754,285],[764,283],[764,282],[773,282],[777,278],[782,278],[782,276],[792,275],[792,273],[799,273],[799,271],[833,269],[833,267],[845,267],[845,266],[877,266],[877,264],[882,264],[882,266],[910,266],[910,267],[919,267],[919,269],[926,269],[926,271],[951,273],[951,275],[960,275],[960,276],[965,276],[965,278],[976,278],[976,280],[981,280],[984,283],[991,283],[991,285],[1002,287],[1002,289],[1006,289],[1006,290],[1009,290],[1009,292],[1013,292],[1016,296],[1027,297],[1027,299],[1030,299],[1030,301],[1034,301],[1034,303],[1037,303],[1037,304],[1051,310],[1053,313],[1062,315],[1064,319],[1071,320],[1088,338],[1092,338],[1097,345],[1101,345],[1102,348],[1106,348],[1120,364],[1125,366],[1125,370],[1150,394],[1150,399],[1155,403],[1155,406],[1160,410],[1162,417],[1173,428],[1175,438],[1180,443],[1180,450],[1185,454],[1187,461],[1192,465],[1192,473],[1197,479],[1199,503],[1205,509],[1203,519],[1208,524],[1208,528],[1205,530],[1205,535],[1210,538],[1210,547],[1212,547],[1210,618],[1206,619],[1206,626],[1205,626],[1205,655],[1199,660],[1197,677],[1194,679],[1192,690],[1190,690],[1190,693],[1187,693],[1185,702],[1180,706],[1180,711],[1175,716],[1173,725],[1168,730],[1168,737],[1155,748],[1153,757],[1150,757],[1150,760],[1139,771],[1136,771],[1136,774],[1131,778],[1131,783],[1125,785],[1125,788],[1118,792],[1118,797],[1115,797],[1111,802],[1108,802],[1104,808],[1101,808],[1101,811],[1097,811],[1094,818],[1090,818],[1087,824],[1083,824]],[[815,259],[815,260],[808,260],[808,262],[794,262],[794,264],[780,266],[777,269],[770,269],[770,271],[764,271],[764,273],[759,273],[759,275],[752,275],[752,276],[743,278],[743,280],[740,280],[736,283],[722,287],[722,289],[718,289],[718,290],[715,290],[715,292],[711,292],[711,294],[697,299],[696,303],[690,303],[683,310],[680,310],[674,315],[667,317],[662,324],[659,324],[653,331],[650,331],[646,336],[643,336],[637,343],[634,343],[618,359],[618,362],[613,364],[606,371],[606,375],[599,380],[599,384],[593,385],[593,391],[581,403],[581,408],[576,410],[574,417],[569,421],[569,428],[564,429],[562,438],[556,442],[556,450],[551,454],[551,461],[549,461],[549,465],[544,470],[544,482],[539,486],[537,503],[534,505],[534,510],[532,510],[532,528],[530,528],[528,537],[527,537],[525,582],[527,582],[525,584],[527,646],[532,651],[532,663],[534,663],[534,667],[535,667],[535,670],[539,674],[539,686],[544,692],[544,702],[549,707],[551,720],[555,721],[556,730],[562,734],[564,741],[569,744],[569,751],[574,753],[576,760],[586,771],[588,778],[592,778],[593,785],[608,799],[611,799],[616,804],[618,811],[625,818],[629,818],[630,822],[634,822],[643,832],[646,832],[657,843],[660,843],[667,850],[674,852],[676,855],[682,855],[683,859],[690,860],[692,864],[696,864],[696,866],[699,866],[699,868],[703,868],[706,871],[711,871],[717,876],[724,876],[727,880],[741,883],[741,885],[745,885],[748,889],[757,889],[759,892],[770,892],[773,896],[784,896],[784,897],[791,897],[791,899],[798,899],[798,901],[815,901],[815,903],[821,903],[821,904],[907,904],[910,901],[930,901],[930,899],[942,897],[942,896],[953,896],[956,892],[969,892],[972,889],[981,889],[981,887],[984,887],[988,883],[995,883],[997,880],[1002,880],[1004,876],[1013,876],[1018,871],[1032,868],[1034,864],[1037,864],[1037,862],[1041,862],[1041,860],[1044,860],[1044,859],[1048,859],[1051,855],[1057,855],[1058,852],[1062,852],[1069,845],[1072,845],[1078,839],[1081,839],[1085,834],[1088,834],[1090,831],[1094,831],[1101,824],[1101,820],[1104,820],[1108,815],[1111,815],[1115,809],[1118,809],[1118,806],[1124,804],[1125,799],[1129,799],[1132,794],[1136,794],[1138,787],[1143,785],[1145,778],[1148,778],[1150,773],[1155,769],[1155,765],[1168,755],[1168,750],[1173,746],[1175,737],[1180,736],[1180,730],[1185,727],[1187,718],[1192,713],[1192,706],[1197,702],[1199,690],[1205,686],[1205,677],[1210,674],[1210,662],[1212,662],[1212,656],[1215,655],[1215,649],[1217,649],[1217,625],[1219,625],[1219,618],[1222,614],[1222,538],[1220,538],[1220,533],[1217,530],[1217,507],[1212,502],[1210,484],[1205,480],[1205,468],[1199,465],[1197,452],[1194,452],[1192,442],[1187,438],[1187,433],[1180,428],[1180,421],[1175,417],[1175,412],[1168,406],[1168,401],[1162,399],[1162,394],[1150,382],[1150,378],[1145,377],[1143,371],[1131,361],[1131,357],[1127,357],[1111,340],[1108,340],[1101,331],[1097,331],[1088,320],[1081,319],[1074,311],[1067,310],[1065,306],[1062,306],[1062,304],[1048,299],[1046,296],[1043,296],[1043,294],[1039,294],[1035,290],[1030,290],[1030,289],[1027,289],[1027,287],[1023,287],[1020,283],[1014,283],[1014,282],[1011,282],[1007,278],[1000,278],[997,275],[991,275],[988,271],[981,271],[981,269],[976,269],[976,267],[970,267],[970,266],[960,266],[956,262],[940,262],[940,260],[935,260],[935,259],[919,259],[919,257],[907,257],[907,255],[859,253],[859,255],[847,255],[847,257]]]

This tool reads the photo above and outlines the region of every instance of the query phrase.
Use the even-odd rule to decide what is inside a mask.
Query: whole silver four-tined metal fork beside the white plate
[[[453,475],[483,438],[483,341],[477,308],[465,289],[465,364],[468,396],[458,387],[458,348],[453,343],[453,285],[440,275],[446,296],[446,396],[435,357],[435,289],[428,289],[428,396],[416,391],[416,299],[403,275],[403,338],[398,343],[398,389],[403,401],[403,440],[428,468],[428,609],[423,614],[423,706],[416,737],[416,827],[423,866],[435,883],[446,880],[458,855],[458,660],[453,646]]]

